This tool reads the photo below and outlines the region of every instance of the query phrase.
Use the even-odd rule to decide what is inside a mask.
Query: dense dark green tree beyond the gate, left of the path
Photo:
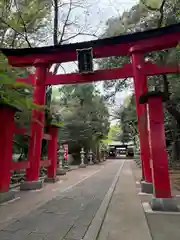
[[[64,123],[59,141],[68,141],[72,152],[79,153],[82,146],[95,149],[109,130],[109,113],[103,96],[93,84],[63,86],[59,93],[60,99],[53,103],[54,111],[59,110]]]

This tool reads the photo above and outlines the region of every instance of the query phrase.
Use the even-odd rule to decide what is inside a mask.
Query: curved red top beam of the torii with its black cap
[[[176,47],[180,41],[180,23],[117,37],[88,42],[24,49],[0,49],[16,67],[76,61],[76,50],[93,48],[94,58],[125,56],[131,51],[151,52]],[[132,48],[134,47],[134,49]]]

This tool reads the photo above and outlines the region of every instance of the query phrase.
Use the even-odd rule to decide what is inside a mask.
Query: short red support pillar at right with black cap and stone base
[[[178,211],[177,204],[171,196],[168,172],[168,155],[164,131],[164,113],[162,92],[147,92],[139,99],[140,104],[148,103],[150,144],[152,156],[153,198],[152,210]]]

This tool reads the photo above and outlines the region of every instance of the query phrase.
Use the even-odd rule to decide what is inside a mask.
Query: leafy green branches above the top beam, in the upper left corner
[[[51,2],[46,0],[1,0],[1,47],[31,47],[39,44],[39,37],[45,34],[50,7]]]

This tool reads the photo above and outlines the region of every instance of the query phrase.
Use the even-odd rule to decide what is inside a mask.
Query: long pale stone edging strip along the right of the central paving
[[[109,203],[111,201],[113,192],[116,188],[116,184],[119,180],[121,170],[124,166],[125,160],[123,161],[119,171],[117,172],[116,176],[114,177],[113,183],[111,187],[109,188],[108,192],[105,195],[104,200],[102,201],[99,210],[97,211],[94,219],[92,220],[91,225],[89,226],[83,240],[96,240],[98,237],[98,234],[101,230],[101,226],[103,224]]]

